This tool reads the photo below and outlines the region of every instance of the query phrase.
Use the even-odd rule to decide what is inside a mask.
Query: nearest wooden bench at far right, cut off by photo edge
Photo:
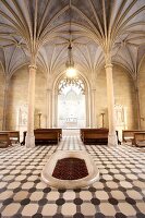
[[[137,147],[145,147],[145,132],[134,133],[133,144]]]

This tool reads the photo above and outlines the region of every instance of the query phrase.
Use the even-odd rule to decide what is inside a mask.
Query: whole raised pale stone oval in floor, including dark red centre
[[[81,162],[84,161],[84,170],[78,169],[78,165],[73,166],[73,171],[71,172],[72,166],[65,166],[61,169],[58,167],[56,172],[56,166],[60,160],[65,159],[80,159]],[[75,162],[76,164],[76,162]],[[72,165],[72,164],[71,164]],[[69,169],[70,168],[70,169]],[[77,168],[77,169],[76,169]],[[82,175],[78,175],[82,171]],[[61,173],[62,172],[62,173]],[[71,173],[70,173],[71,172]],[[59,175],[53,177],[53,173],[58,173]],[[73,175],[72,175],[73,173]],[[63,175],[63,177],[62,177]],[[74,178],[75,177],[75,178]],[[82,186],[88,186],[89,184],[97,181],[99,178],[99,171],[92,157],[85,150],[58,150],[55,153],[41,172],[41,179],[45,183],[50,186],[55,186],[58,189],[77,189]]]

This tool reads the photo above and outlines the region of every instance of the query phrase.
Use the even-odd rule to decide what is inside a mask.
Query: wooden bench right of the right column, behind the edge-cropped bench
[[[142,130],[123,130],[122,131],[122,142],[131,142],[134,144],[134,133],[145,133]]]

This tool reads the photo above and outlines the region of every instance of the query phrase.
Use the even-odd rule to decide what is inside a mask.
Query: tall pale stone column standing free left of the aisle
[[[28,148],[35,147],[35,136],[34,136],[35,74],[36,74],[36,65],[29,65],[27,134],[25,143],[26,147]]]

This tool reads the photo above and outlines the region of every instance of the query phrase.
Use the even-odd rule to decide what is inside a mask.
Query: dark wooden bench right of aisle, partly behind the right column
[[[117,140],[118,144],[121,144],[121,142],[118,138],[118,131],[117,133]],[[107,145],[108,144],[108,129],[81,129],[81,138],[84,144],[96,144],[96,145]]]

